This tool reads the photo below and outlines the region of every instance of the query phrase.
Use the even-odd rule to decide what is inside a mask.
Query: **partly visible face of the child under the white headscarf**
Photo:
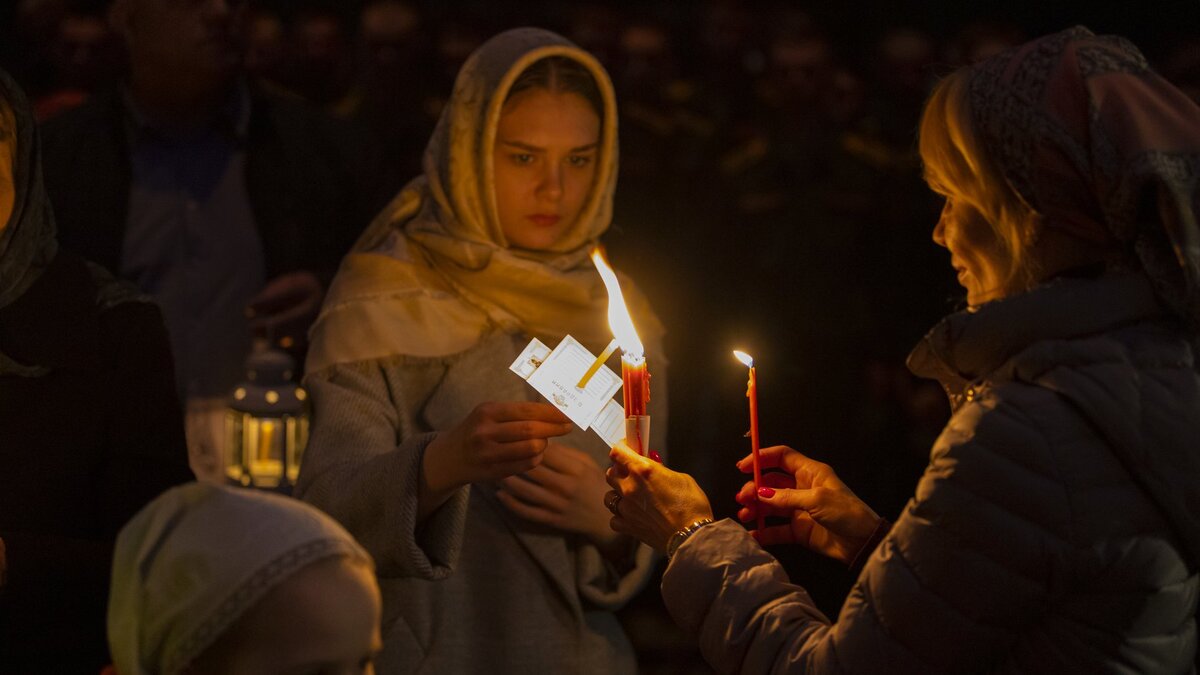
[[[370,675],[379,589],[349,558],[314,562],[272,589],[229,627],[187,675]]]

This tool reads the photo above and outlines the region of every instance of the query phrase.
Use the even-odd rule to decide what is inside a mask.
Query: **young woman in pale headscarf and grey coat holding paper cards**
[[[636,668],[613,610],[652,551],[608,527],[608,448],[508,370],[530,338],[611,340],[588,253],[616,178],[602,67],[554,34],[511,30],[466,62],[425,174],[342,263],[312,331],[296,492],[376,558],[382,673]],[[662,328],[623,286],[661,452]]]

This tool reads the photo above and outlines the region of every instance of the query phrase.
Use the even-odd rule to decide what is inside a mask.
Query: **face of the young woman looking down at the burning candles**
[[[541,251],[571,229],[592,190],[600,117],[578,94],[529,89],[500,112],[496,209],[509,245]]]

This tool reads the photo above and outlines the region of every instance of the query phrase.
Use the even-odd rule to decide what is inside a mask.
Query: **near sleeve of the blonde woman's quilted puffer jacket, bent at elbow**
[[[1051,597],[1062,569],[1051,558],[1069,539],[1066,490],[1027,410],[991,399],[955,414],[836,622],[733,522],[680,546],[662,580],[671,614],[721,673],[966,673],[1003,661]]]

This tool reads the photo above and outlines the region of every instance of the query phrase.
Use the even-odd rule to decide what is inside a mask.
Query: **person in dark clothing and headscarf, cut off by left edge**
[[[95,673],[116,531],[191,472],[162,316],[59,250],[41,171],[0,71],[0,670]]]

